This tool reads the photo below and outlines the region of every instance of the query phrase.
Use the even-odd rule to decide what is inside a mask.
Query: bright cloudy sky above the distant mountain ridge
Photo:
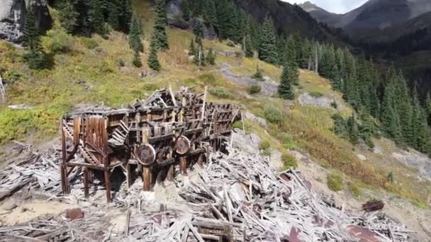
[[[282,0],[291,4],[302,4],[308,0]],[[331,13],[347,13],[354,8],[364,4],[366,0],[309,0],[320,8],[330,11]]]

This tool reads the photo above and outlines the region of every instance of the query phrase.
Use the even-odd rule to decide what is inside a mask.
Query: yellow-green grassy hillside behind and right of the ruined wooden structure
[[[139,10],[144,19],[145,39],[150,36],[152,13],[148,11],[148,1],[135,1],[135,9]],[[33,110],[9,110],[6,106],[0,109],[0,142],[11,139],[25,139],[30,132],[38,134],[40,140],[57,135],[57,122],[62,115],[72,109],[77,103],[104,103],[112,107],[120,107],[135,98],[145,98],[159,87],[172,85],[197,85],[198,90],[208,85],[225,87],[233,98],[221,100],[210,96],[214,101],[230,101],[242,105],[252,113],[264,117],[268,105],[284,113],[284,122],[270,125],[267,132],[259,125],[246,121],[247,129],[259,134],[272,146],[280,151],[297,149],[310,154],[313,159],[328,168],[339,169],[349,175],[349,179],[366,183],[371,188],[387,188],[412,200],[426,200],[425,191],[431,184],[412,179],[416,174],[408,168],[401,168],[387,156],[376,155],[370,151],[355,148],[330,131],[332,115],[335,110],[313,106],[298,105],[298,101],[286,102],[279,98],[256,96],[250,98],[245,94],[247,87],[237,86],[227,81],[219,74],[217,68],[198,69],[187,59],[191,33],[185,30],[169,30],[171,48],[168,52],[159,54],[163,70],[160,74],[150,74],[140,79],[131,65],[133,53],[128,49],[127,38],[122,33],[111,33],[108,38],[98,35],[93,37],[99,47],[89,50],[82,44],[83,38],[74,37],[72,51],[66,54],[56,54],[55,66],[50,70],[31,71],[22,63],[23,50],[0,42],[0,57],[2,71],[19,74],[19,81],[8,87],[9,103],[26,103],[33,105]],[[239,51],[239,47],[228,47],[216,40],[205,41],[206,47],[216,51]],[[147,47],[147,42],[146,42]],[[142,63],[146,66],[146,53],[142,54]],[[120,67],[120,60],[125,67]],[[223,63],[235,64],[231,71],[250,76],[256,65],[262,68],[265,75],[278,80],[281,69],[260,62],[257,59],[240,59],[218,55],[217,65]],[[239,65],[238,65],[239,64]],[[337,98],[342,102],[340,93],[331,90],[328,80],[310,71],[301,70],[300,87],[297,96],[304,92],[320,92],[329,98]],[[343,111],[349,115],[351,110]],[[356,150],[355,150],[356,149]],[[360,161],[356,154],[364,154],[369,161]],[[397,180],[402,183],[386,183],[388,171],[396,173]],[[365,186],[365,185],[364,185]]]

